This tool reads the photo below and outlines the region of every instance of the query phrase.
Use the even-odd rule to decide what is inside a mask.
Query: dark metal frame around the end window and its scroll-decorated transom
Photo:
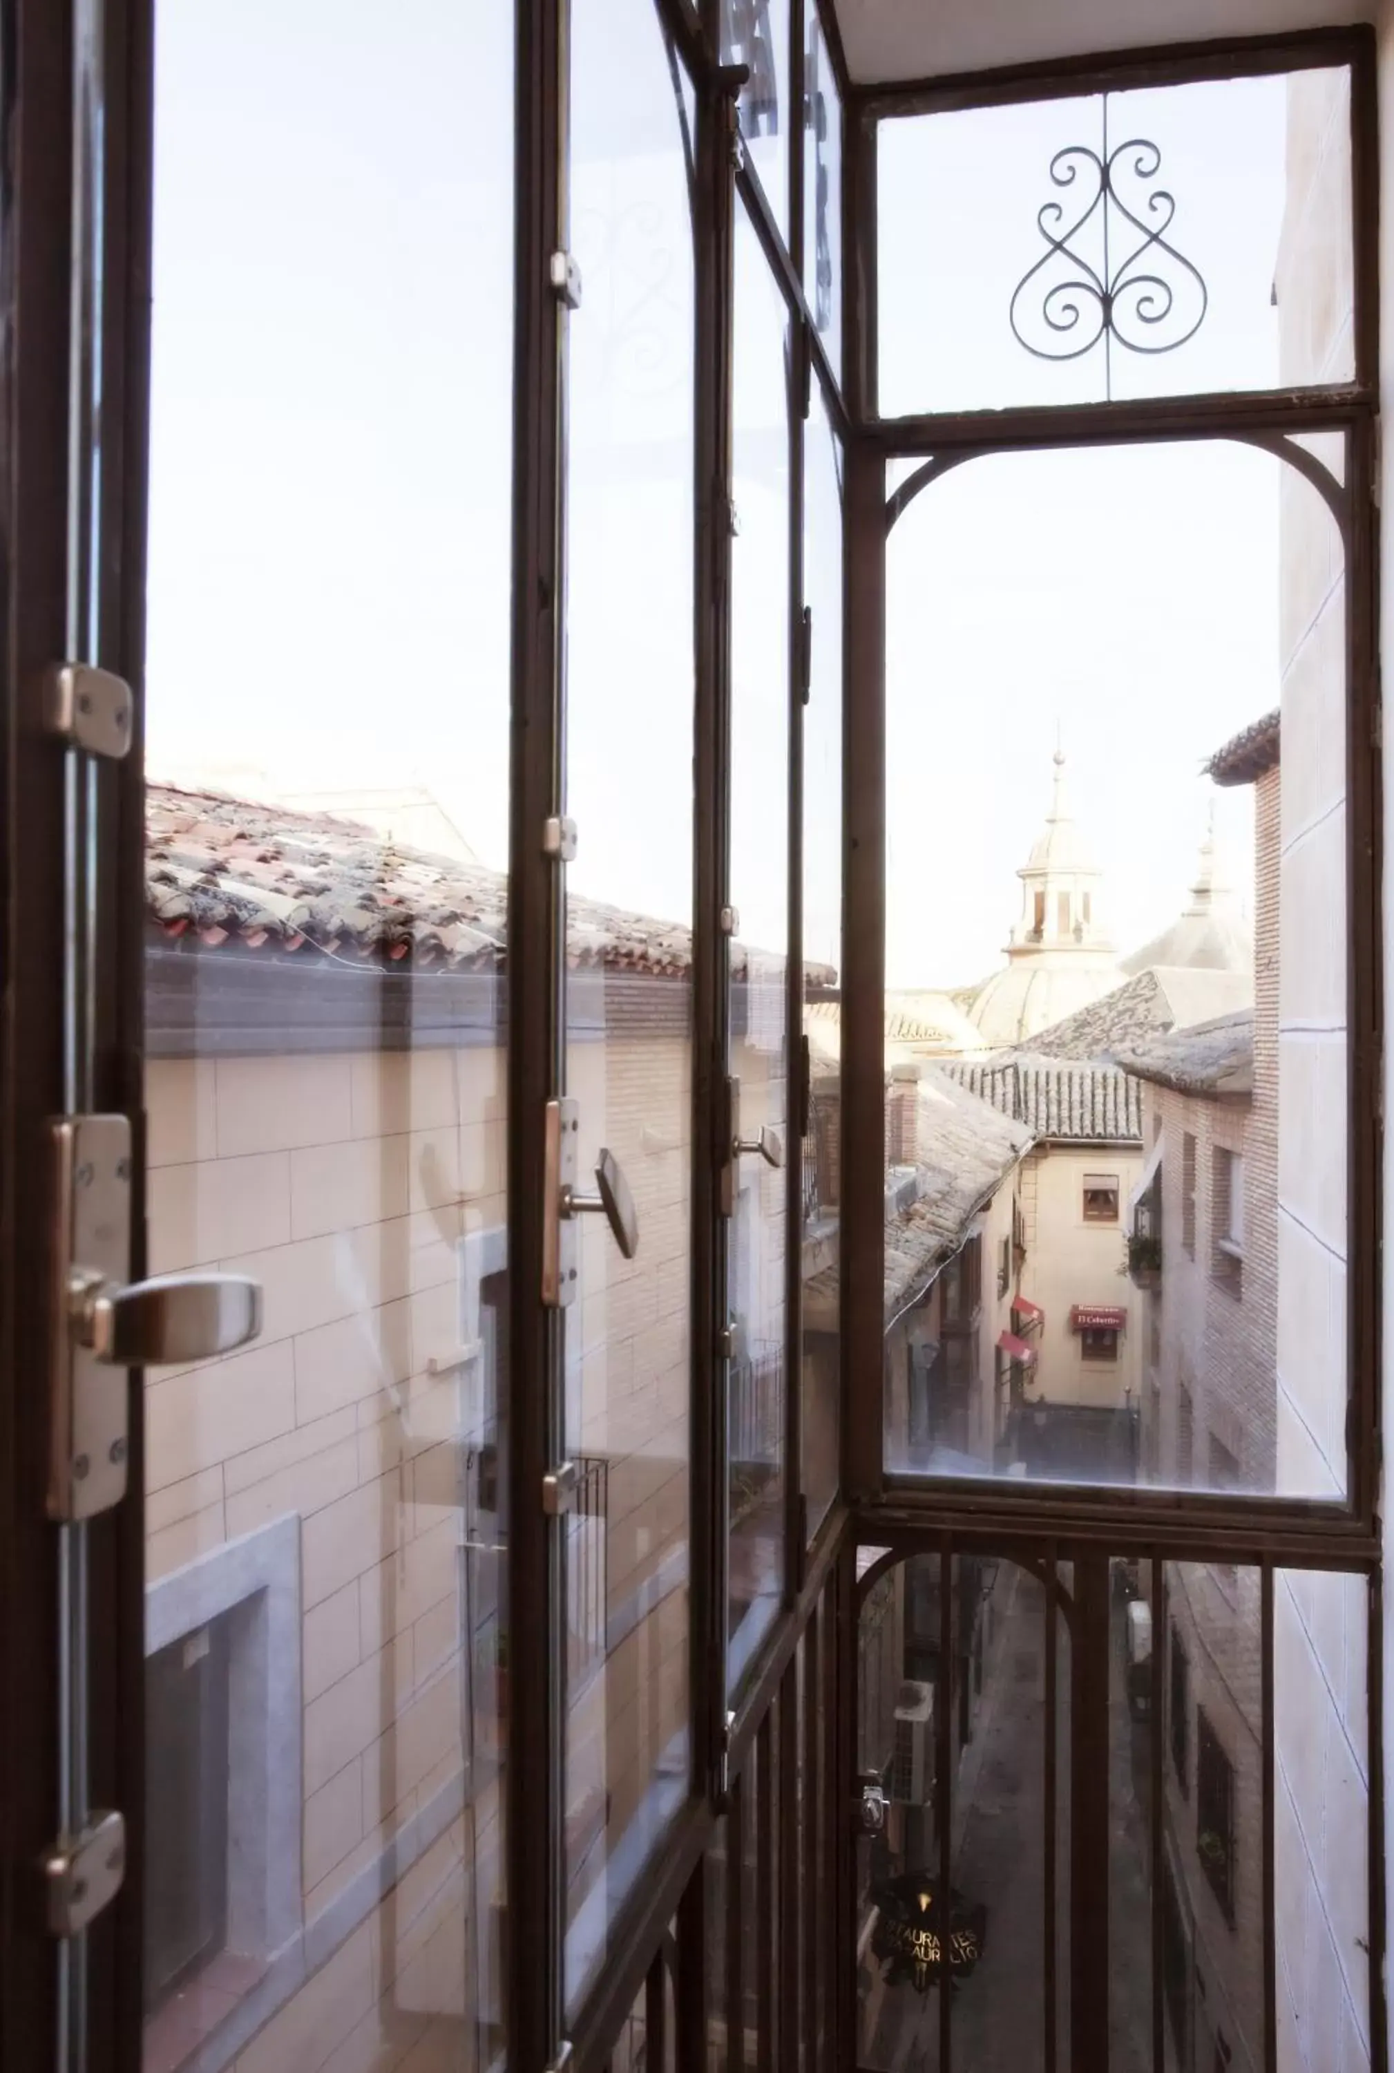
[[[1005,106],[1069,97],[1102,87],[1179,85],[1195,79],[1251,77],[1311,66],[1351,68],[1355,367],[1342,388],[1181,396],[1143,402],[1013,406],[996,413],[876,417],[876,126],[903,114]],[[1249,1520],[1274,1536],[1311,1532],[1336,1553],[1377,1538],[1380,1478],[1380,1063],[1382,1063],[1382,827],[1377,798],[1377,151],[1375,46],[1365,27],[1241,44],[1199,44],[1160,52],[1106,54],[1065,64],[1036,64],[974,77],[853,89],[845,174],[847,379],[855,419],[849,477],[860,502],[849,510],[849,734],[843,1109],[849,1157],[845,1211],[845,1488],[855,1505],[884,1503],[920,1511],[926,1526],[942,1515],[996,1515],[1034,1522],[1042,1532],[1071,1524],[1108,1524],[1119,1534],[1177,1532],[1183,1522],[1210,1534]],[[1348,1495],[1344,1503],[1259,1499],[1208,1493],[1177,1497],[1150,1490],[1050,1486],[984,1490],[982,1484],[930,1482],[889,1474],[880,1459],[880,997],[884,989],[884,551],[874,539],[874,508],[889,527],[938,473],[988,454],[1083,450],[1098,446],[1239,439],[1282,460],[1301,450],[1290,435],[1336,431],[1344,437],[1346,545],[1346,800],[1348,800],[1348,1231],[1351,1310],[1346,1343]],[[884,498],[884,462],[926,456],[895,498]],[[1303,462],[1295,460],[1297,466]],[[1330,500],[1328,500],[1330,502]],[[1338,514],[1340,518],[1340,514]],[[1276,1544],[1276,1542],[1274,1542]]]

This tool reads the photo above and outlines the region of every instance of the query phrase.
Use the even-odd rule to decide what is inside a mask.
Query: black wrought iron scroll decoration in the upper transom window
[[[1065,222],[1063,201],[1042,203],[1036,226],[1048,249],[1027,267],[1011,299],[1011,330],[1040,361],[1077,361],[1102,340],[1108,396],[1114,340],[1127,352],[1174,352],[1195,338],[1210,307],[1199,267],[1166,236],[1177,197],[1166,187],[1150,187],[1160,170],[1162,151],[1148,137],[1108,147],[1104,95],[1102,149],[1071,143],[1050,160],[1056,187],[1079,184],[1079,211]],[[1079,245],[1094,218],[1100,265]],[[1137,243],[1114,265],[1119,230],[1129,238],[1135,232]]]

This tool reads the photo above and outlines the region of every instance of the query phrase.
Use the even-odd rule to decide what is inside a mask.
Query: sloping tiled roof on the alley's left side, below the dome
[[[955,1084],[951,1066],[922,1068],[916,1088],[916,1192],[887,1217],[887,1321],[913,1302],[959,1250],[976,1211],[1029,1146],[1032,1132]]]

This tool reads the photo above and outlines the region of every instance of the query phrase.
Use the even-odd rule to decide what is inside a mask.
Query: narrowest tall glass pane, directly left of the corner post
[[[814,384],[816,390],[816,384]],[[804,460],[804,1501],[810,1538],[837,1497],[841,1362],[843,452],[816,392]]]

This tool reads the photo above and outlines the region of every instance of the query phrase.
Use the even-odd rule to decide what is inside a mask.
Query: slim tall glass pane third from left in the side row
[[[785,1175],[789,1010],[789,369],[785,305],[735,211],[731,543],[731,1072],[739,1138],[729,1221],[729,1681],[783,1588]]]

